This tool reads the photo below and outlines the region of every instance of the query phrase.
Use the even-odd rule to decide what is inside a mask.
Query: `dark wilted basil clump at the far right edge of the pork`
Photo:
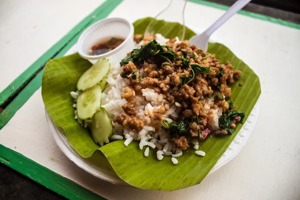
[[[228,114],[223,113],[218,120],[219,127],[226,130],[228,134],[232,134],[234,131],[234,128],[231,127],[230,125],[232,123],[232,120],[237,116],[240,116],[240,120],[236,121],[235,123],[243,123],[243,120],[245,118],[244,111],[238,111],[238,110],[231,109],[228,112]]]

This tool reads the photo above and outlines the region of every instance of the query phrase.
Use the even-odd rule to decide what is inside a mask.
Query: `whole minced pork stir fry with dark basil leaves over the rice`
[[[141,35],[135,35],[135,39],[141,39]],[[173,38],[166,41],[166,45],[158,44],[153,37],[143,40],[141,48],[133,49],[120,62],[124,66],[120,75],[127,83],[121,98],[126,103],[122,106],[125,113],[115,116],[114,122],[135,132],[141,131],[145,122],[139,119],[134,108],[136,95],[150,88],[161,94],[168,104],[162,103],[153,109],[157,121],[157,127],[152,123],[154,132],[159,131],[162,123],[165,131],[169,131],[173,148],[186,150],[187,138],[203,140],[211,132],[232,134],[235,123],[243,122],[244,112],[234,110],[232,102],[225,99],[231,96],[228,84],[239,79],[241,71],[233,70],[229,62],[220,63],[201,48],[190,46],[187,40],[178,42]],[[179,109],[170,122],[163,115],[173,104]]]

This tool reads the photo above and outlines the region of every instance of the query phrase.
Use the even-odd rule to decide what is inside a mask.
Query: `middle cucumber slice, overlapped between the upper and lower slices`
[[[82,91],[77,97],[77,116],[85,120],[92,118],[94,113],[100,108],[101,87],[95,86]]]

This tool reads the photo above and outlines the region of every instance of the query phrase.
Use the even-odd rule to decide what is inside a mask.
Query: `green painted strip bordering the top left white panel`
[[[104,1],[99,7],[74,26],[0,93],[0,105],[4,104],[15,92],[18,92],[21,86],[30,80],[36,72],[44,66],[47,60],[61,52],[61,49],[69,46],[70,40],[74,39],[74,37],[78,38],[79,34],[94,21],[105,18],[121,1],[122,0]]]

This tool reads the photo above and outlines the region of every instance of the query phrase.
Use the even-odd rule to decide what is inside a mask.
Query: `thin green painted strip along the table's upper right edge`
[[[218,8],[218,9],[223,9],[223,10],[227,10],[229,8],[229,6],[227,6],[227,5],[222,5],[222,4],[218,4],[218,3],[214,3],[214,2],[209,2],[209,1],[206,1],[206,0],[188,0],[188,1],[198,3],[198,4],[202,4],[202,5],[207,5],[207,6],[210,6],[210,7],[215,7],[215,8]],[[300,29],[300,24],[292,23],[292,22],[289,22],[289,21],[285,21],[285,20],[270,17],[270,16],[266,16],[266,15],[263,15],[263,14],[258,14],[258,13],[250,12],[250,11],[247,11],[247,10],[239,10],[237,13],[242,14],[242,15],[246,15],[246,16],[250,16],[250,17],[253,17],[253,18],[261,19],[261,20],[264,20],[264,21],[269,21],[269,22],[273,22],[273,23],[278,23],[280,25]]]

